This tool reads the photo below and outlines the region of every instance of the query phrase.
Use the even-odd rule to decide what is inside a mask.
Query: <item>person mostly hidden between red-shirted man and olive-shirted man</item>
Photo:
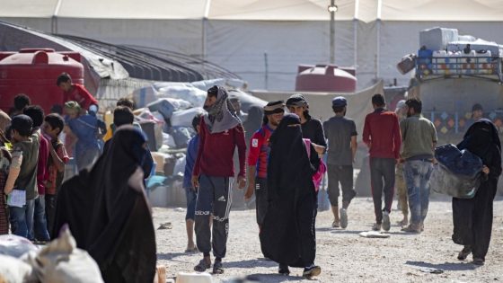
[[[398,116],[398,121],[402,122],[403,119],[407,118],[407,105],[405,101],[402,100],[396,103],[396,109],[394,110],[396,115]],[[397,190],[398,195],[398,209],[402,210],[403,219],[398,222],[400,226],[408,226],[409,225],[409,205],[407,201],[407,184],[405,183],[405,179],[403,179],[403,164],[396,164],[396,172],[394,177],[394,184]]]

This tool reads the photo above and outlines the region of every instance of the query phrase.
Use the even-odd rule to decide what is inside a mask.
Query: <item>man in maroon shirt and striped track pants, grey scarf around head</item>
[[[211,252],[215,262],[213,273],[223,273],[222,258],[225,257],[229,233],[229,212],[234,181],[234,150],[237,146],[239,188],[245,186],[246,142],[241,120],[233,114],[225,88],[213,86],[207,90],[204,105],[207,114],[201,119],[199,149],[192,172],[192,185],[198,190],[196,203],[196,242],[204,258],[194,267],[202,272],[211,267]],[[209,217],[213,215],[213,228]]]

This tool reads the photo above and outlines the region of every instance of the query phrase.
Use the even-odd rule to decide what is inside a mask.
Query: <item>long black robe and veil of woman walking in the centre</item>
[[[280,264],[304,268],[314,263],[316,254],[312,178],[320,160],[313,146],[308,158],[295,114],[281,120],[270,141],[269,207],[260,229],[262,253]]]

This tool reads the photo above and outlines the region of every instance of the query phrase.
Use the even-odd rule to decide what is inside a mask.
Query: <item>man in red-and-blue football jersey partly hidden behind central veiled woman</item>
[[[267,168],[269,160],[269,138],[278,127],[285,113],[285,102],[269,102],[264,106],[262,127],[257,130],[250,141],[248,152],[248,190],[244,199],[252,198],[255,191],[257,224],[262,226],[268,207]],[[250,116],[249,116],[250,119]]]

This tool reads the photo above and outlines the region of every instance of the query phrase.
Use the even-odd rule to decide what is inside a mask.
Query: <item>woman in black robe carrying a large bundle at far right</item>
[[[481,184],[473,199],[453,198],[453,241],[464,245],[457,257],[460,261],[472,253],[473,264],[483,265],[489,250],[493,201],[501,174],[498,129],[489,119],[479,119],[468,128],[457,147],[479,156],[484,166]]]

